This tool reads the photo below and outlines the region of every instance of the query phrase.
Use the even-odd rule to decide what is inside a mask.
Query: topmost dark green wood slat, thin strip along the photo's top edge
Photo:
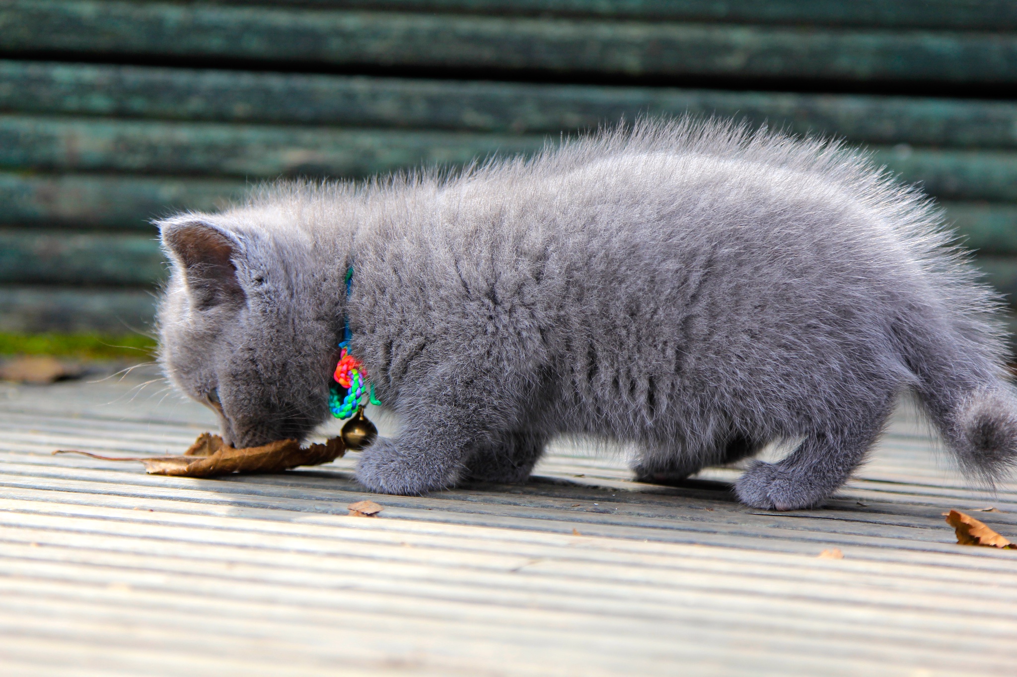
[[[1017,5],[1008,0],[273,0],[271,4],[413,12],[910,26],[953,30],[1006,30],[1017,27]]]

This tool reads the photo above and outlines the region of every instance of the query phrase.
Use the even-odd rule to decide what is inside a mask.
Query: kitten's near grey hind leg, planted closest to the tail
[[[753,507],[793,511],[820,504],[847,481],[883,431],[893,398],[871,406],[845,407],[839,418],[807,434],[777,463],[757,461],[735,484]]]

